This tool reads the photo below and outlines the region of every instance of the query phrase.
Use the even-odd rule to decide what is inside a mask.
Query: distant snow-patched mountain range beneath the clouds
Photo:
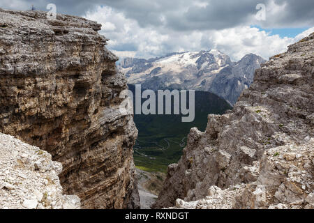
[[[126,74],[129,84],[142,84],[142,89],[209,91],[234,105],[253,82],[255,69],[264,62],[255,54],[233,62],[227,54],[211,49],[176,52],[154,59],[124,58],[118,68]]]

